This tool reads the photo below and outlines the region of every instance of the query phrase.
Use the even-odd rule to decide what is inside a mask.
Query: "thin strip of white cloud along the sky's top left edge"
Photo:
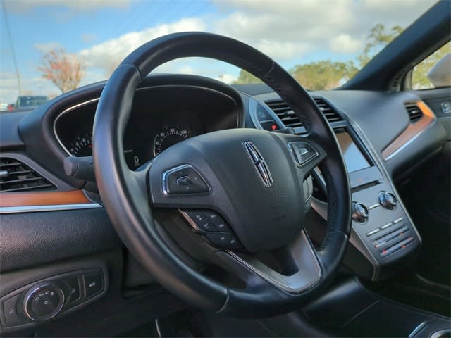
[[[30,11],[40,6],[63,6],[74,11],[93,11],[106,7],[126,8],[135,0],[4,0],[13,12]]]

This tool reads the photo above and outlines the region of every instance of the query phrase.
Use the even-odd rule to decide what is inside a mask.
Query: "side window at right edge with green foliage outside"
[[[447,55],[450,53],[451,53],[451,42],[447,42],[447,44],[440,47],[440,49],[438,49],[433,54],[431,54],[423,61],[421,61],[418,65],[416,65],[412,70],[411,88],[414,90],[418,90],[418,89],[433,89],[437,87],[445,87],[447,85],[449,86],[450,84],[446,82],[434,82],[433,80],[431,82],[430,72],[435,65],[438,65],[439,61],[440,63],[443,63],[443,65],[441,65],[440,67],[440,70],[445,71],[448,68],[449,71],[448,64],[450,63],[450,56]],[[447,56],[447,58],[445,58],[445,56]]]

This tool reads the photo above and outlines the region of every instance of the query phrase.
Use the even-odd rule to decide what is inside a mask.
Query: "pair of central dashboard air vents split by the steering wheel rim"
[[[314,101],[316,102],[316,105],[319,106],[321,112],[326,116],[329,123],[342,121],[340,115],[338,115],[335,109],[326,103],[326,101],[319,97],[315,97]],[[278,118],[280,118],[285,127],[294,128],[302,126],[302,122],[299,121],[299,118],[297,118],[295,112],[292,111],[292,109],[288,106],[288,104],[285,104],[284,101],[266,101],[265,103],[274,113],[276,113],[276,115],[278,115]]]

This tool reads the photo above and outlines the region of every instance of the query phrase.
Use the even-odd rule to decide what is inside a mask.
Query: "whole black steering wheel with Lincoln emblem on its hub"
[[[123,135],[135,89],[157,66],[190,56],[225,61],[259,77],[292,108],[307,135],[221,130],[175,144],[140,170],[130,170]],[[351,194],[335,134],[302,86],[257,49],[204,32],[147,42],[106,83],[93,140],[99,192],[118,235],[163,287],[188,303],[240,317],[287,313],[321,291],[338,271],[350,233]],[[303,189],[317,165],[328,197],[327,232],[319,249],[304,230]],[[228,286],[186,263],[163,239],[153,217],[163,208],[184,215],[213,211],[226,220],[228,232],[216,234],[226,238],[226,245],[204,240],[209,233],[199,228],[195,245],[208,248],[206,259],[240,277],[245,286]],[[279,253],[285,269],[258,258],[268,251]]]

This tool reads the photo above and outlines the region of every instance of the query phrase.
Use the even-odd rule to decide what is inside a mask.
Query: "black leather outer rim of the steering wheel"
[[[142,78],[163,63],[192,56],[225,61],[259,77],[295,111],[309,139],[327,154],[320,165],[328,188],[327,232],[316,251],[321,278],[303,292],[285,292],[270,283],[245,290],[228,288],[192,270],[168,248],[156,229],[147,173],[128,169],[123,134]],[[326,287],[340,267],[350,234],[352,201],[335,134],[302,86],[271,58],[247,44],[221,35],[183,32],[154,39],[133,51],[101,93],[94,119],[93,156],[102,201],[125,246],[163,287],[188,303],[235,316],[286,313]]]

